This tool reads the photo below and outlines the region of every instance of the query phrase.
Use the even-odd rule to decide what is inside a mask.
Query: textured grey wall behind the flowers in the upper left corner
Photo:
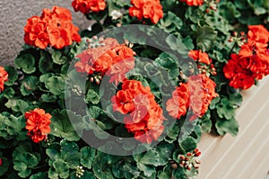
[[[28,18],[41,15],[43,8],[53,5],[68,8],[73,13],[73,22],[80,29],[90,22],[82,13],[74,13],[72,0],[0,0],[0,66],[13,64],[13,59],[22,49],[23,27]]]

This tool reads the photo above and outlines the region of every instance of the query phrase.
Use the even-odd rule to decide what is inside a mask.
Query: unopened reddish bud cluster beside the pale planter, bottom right
[[[196,148],[193,153],[187,152],[186,156],[179,157],[181,160],[179,166],[186,168],[187,170],[191,170],[193,167],[198,169],[201,161],[197,160],[196,157],[199,157],[200,155],[201,152],[198,150],[198,148]]]

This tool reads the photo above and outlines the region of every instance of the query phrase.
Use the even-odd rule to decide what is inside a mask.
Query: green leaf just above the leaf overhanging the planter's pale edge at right
[[[226,97],[221,99],[221,103],[216,105],[216,109],[220,118],[230,120],[235,115],[235,108]]]

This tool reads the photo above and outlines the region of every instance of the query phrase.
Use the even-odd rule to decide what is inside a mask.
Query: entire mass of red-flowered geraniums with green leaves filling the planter
[[[72,6],[89,29],[44,9],[0,67],[0,176],[194,178],[201,134],[236,136],[240,90],[269,73],[268,3]]]

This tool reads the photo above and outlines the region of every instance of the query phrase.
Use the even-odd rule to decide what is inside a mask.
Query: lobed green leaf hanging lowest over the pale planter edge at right
[[[236,136],[239,132],[239,122],[234,118],[230,120],[218,120],[215,124],[218,133],[222,136],[229,132],[231,136]]]

